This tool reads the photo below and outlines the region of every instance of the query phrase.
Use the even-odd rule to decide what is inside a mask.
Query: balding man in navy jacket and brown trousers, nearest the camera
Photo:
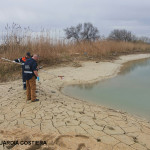
[[[39,101],[36,99],[36,79],[39,81],[37,60],[38,55],[34,54],[32,58],[29,58],[25,62],[24,68],[27,85],[27,100],[31,100],[32,102]]]

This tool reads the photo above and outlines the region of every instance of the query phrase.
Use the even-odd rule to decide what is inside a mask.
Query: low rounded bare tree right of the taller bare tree
[[[108,39],[110,40],[125,42],[133,41],[134,38],[135,36],[130,31],[118,29],[113,30],[108,37]]]

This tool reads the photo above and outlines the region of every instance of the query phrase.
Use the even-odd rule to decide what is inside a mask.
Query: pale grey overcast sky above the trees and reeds
[[[105,36],[127,29],[150,37],[150,0],[1,0],[0,28],[12,22],[36,31],[91,22]]]

